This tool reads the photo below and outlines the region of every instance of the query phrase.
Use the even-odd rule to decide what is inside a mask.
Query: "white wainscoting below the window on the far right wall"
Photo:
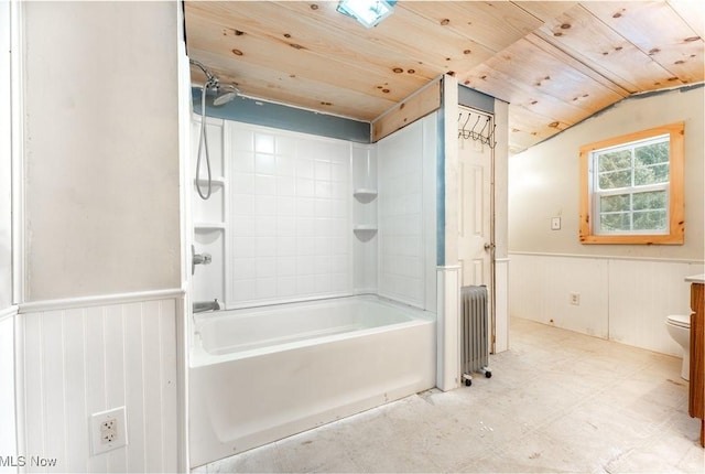
[[[669,314],[690,314],[690,284],[703,262],[511,252],[512,316],[681,356]],[[571,304],[571,293],[579,304]]]

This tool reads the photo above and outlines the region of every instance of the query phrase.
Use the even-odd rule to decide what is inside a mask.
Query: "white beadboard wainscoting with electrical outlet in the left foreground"
[[[20,305],[15,354],[23,470],[42,471],[30,456],[56,460],[55,472],[180,470],[183,298],[183,291],[170,290],[108,297],[102,304],[97,298],[93,304]],[[128,445],[93,455],[90,414],[123,406]]]

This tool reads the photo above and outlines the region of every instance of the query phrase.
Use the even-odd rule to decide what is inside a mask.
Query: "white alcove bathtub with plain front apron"
[[[191,466],[435,385],[435,314],[376,297],[196,314]]]

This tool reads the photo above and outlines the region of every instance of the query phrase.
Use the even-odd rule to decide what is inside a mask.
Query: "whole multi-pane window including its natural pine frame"
[[[683,123],[581,148],[582,244],[683,244]]]

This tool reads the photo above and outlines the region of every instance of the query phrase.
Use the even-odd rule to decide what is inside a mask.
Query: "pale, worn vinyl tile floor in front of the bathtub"
[[[514,319],[490,366],[193,473],[705,473],[680,358]]]

